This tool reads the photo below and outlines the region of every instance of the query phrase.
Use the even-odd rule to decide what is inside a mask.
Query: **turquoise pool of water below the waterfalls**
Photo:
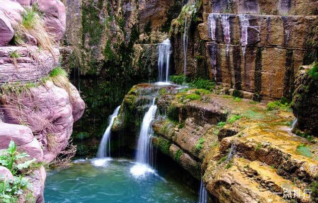
[[[108,160],[103,166],[86,161],[50,172],[46,179],[45,202],[196,203],[197,195],[170,176],[165,177],[165,172],[134,177],[130,173],[134,165],[127,159]]]

